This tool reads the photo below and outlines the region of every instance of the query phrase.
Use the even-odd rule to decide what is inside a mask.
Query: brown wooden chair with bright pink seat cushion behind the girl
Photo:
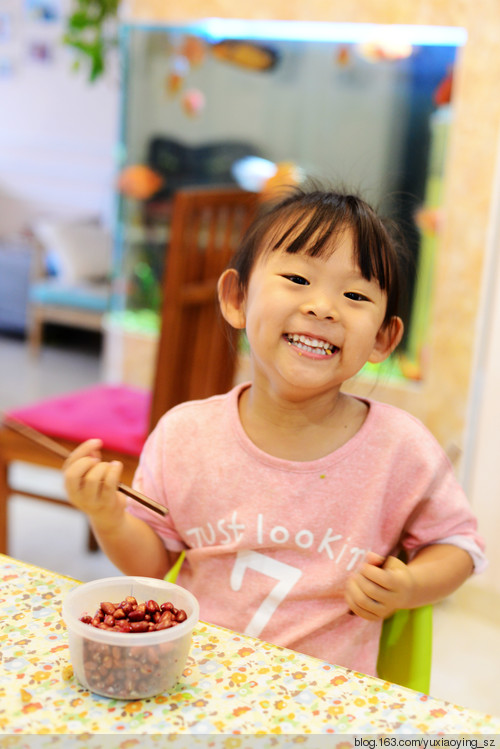
[[[163,310],[152,393],[126,386],[96,385],[9,411],[69,450],[100,437],[106,460],[124,464],[130,484],[142,445],[160,416],[184,400],[228,390],[236,346],[219,317],[217,279],[253,218],[256,196],[232,188],[179,190],[163,283]],[[61,459],[2,425],[0,428],[0,553],[8,553],[7,508],[13,494],[49,502],[65,500],[14,490],[14,461],[60,468]]]

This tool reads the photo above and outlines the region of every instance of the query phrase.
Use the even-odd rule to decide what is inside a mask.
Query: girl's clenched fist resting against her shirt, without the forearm
[[[354,614],[376,621],[409,608],[413,588],[411,570],[404,562],[369,552],[361,569],[348,579],[345,600]]]

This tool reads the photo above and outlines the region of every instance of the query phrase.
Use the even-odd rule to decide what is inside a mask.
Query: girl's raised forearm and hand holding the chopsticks
[[[101,461],[100,440],[87,440],[64,464],[68,499],[88,516],[100,547],[127,575],[162,578],[179,554],[168,552],[147,523],[126,512],[117,491],[122,464]]]

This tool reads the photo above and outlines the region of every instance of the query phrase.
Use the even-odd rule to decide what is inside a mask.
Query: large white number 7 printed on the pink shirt
[[[241,590],[246,569],[261,572],[263,575],[278,581],[264,598],[245,629],[244,634],[258,637],[280,603],[287,597],[301,577],[302,570],[266,557],[264,554],[259,554],[258,551],[239,551],[231,573],[231,588],[233,590]]]

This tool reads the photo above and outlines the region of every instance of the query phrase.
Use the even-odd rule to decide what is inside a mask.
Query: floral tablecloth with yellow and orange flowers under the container
[[[204,622],[174,690],[100,697],[69,660],[76,581],[0,555],[0,583],[3,734],[500,734],[498,718]]]

